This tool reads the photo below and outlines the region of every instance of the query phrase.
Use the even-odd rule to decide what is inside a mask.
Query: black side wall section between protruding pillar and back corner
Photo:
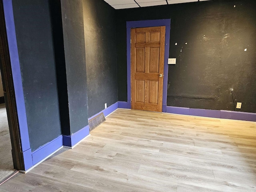
[[[89,117],[117,102],[115,10],[83,0]]]

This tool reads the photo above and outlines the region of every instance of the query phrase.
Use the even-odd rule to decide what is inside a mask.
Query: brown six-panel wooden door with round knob
[[[165,26],[131,29],[132,109],[162,112]]]

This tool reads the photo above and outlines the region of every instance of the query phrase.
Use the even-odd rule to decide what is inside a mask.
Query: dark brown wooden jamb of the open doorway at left
[[[11,2],[11,1],[10,1]],[[6,11],[6,10],[5,10]],[[6,14],[4,4],[0,1],[0,69],[4,89],[4,100],[8,118],[10,140],[12,145],[12,161],[17,170],[24,169],[24,158],[22,154],[21,130],[18,119],[17,98],[15,92],[16,72],[13,72],[10,59],[10,50],[6,31]]]

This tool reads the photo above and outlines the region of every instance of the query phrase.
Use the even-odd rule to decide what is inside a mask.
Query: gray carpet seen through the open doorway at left
[[[0,181],[14,172],[6,108],[0,104]]]

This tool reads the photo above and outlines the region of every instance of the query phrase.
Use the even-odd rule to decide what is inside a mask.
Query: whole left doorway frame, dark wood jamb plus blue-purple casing
[[[6,109],[12,142],[12,154],[14,154],[14,152],[17,154],[16,160],[13,158],[13,162],[14,166],[17,166],[15,167],[16,169],[28,170],[28,168],[33,166],[33,162],[28,134],[12,0],[0,0],[0,4],[0,14],[2,15],[2,17],[0,17],[0,22],[3,25],[0,32],[2,42],[4,42],[3,49],[5,50],[5,54],[3,54],[4,64],[2,65],[3,68],[4,65],[8,68],[8,71],[2,71],[2,75],[7,77],[7,79],[3,78],[3,83],[5,84],[7,95],[5,99],[8,104],[10,103]],[[12,130],[13,132],[11,132]],[[19,163],[15,164],[15,161]]]

